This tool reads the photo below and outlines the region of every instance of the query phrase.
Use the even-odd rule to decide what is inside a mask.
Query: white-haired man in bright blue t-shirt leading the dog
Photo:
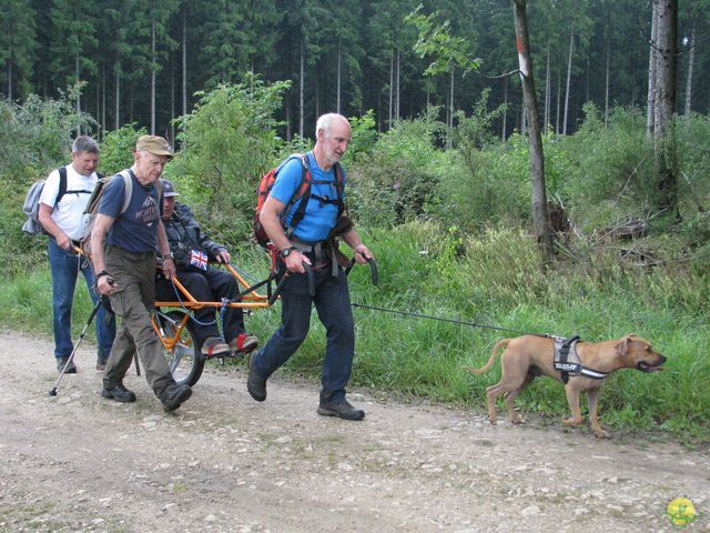
[[[333,263],[331,232],[336,225],[343,191],[337,191],[335,165],[351,142],[351,125],[345,117],[328,113],[316,123],[316,143],[307,154],[312,177],[311,195],[303,219],[284,231],[282,215],[301,184],[303,161],[293,158],[280,169],[271,194],[264,202],[260,221],[271,242],[281,250],[278,272],[288,279],[281,291],[282,323],[266,345],[250,358],[247,390],[252,398],[266,400],[266,380],[295,353],[308,334],[311,308],[315,304],[326,329],[327,344],[321,373],[321,399],[317,413],[346,420],[362,420],[365,412],[345,399],[345,386],[353,370],[355,329],[347,278]],[[342,169],[339,169],[342,172]],[[345,178],[343,177],[343,185]],[[344,188],[344,187],[343,187]],[[334,200],[336,199],[336,200]],[[291,225],[300,201],[285,213]],[[352,227],[342,239],[355,251],[358,263],[373,258]],[[314,271],[315,295],[308,294],[308,280],[303,263]]]

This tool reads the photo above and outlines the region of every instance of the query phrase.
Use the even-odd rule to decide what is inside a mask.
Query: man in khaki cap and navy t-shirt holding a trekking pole
[[[123,376],[138,352],[145,379],[166,412],[180,408],[192,394],[189,385],[175,383],[151,323],[155,305],[156,249],[163,257],[165,276],[175,275],[156,189],[163,168],[172,157],[173,151],[162,137],[141,137],[135,143],[133,165],[121,172],[128,173],[132,183],[126,209],[123,211],[125,180],[123,175],[115,175],[101,195],[91,232],[97,288],[101,294],[109,295],[113,311],[121,318],[101,395],[116,402],[135,401],[135,394],[123,385]]]

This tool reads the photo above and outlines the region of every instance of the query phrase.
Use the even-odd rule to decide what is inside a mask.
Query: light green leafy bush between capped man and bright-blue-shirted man
[[[250,233],[254,191],[284,144],[272,117],[288,82],[246,78],[199,93],[195,110],[179,121],[182,149],[166,170],[197,220],[209,220],[225,244]]]

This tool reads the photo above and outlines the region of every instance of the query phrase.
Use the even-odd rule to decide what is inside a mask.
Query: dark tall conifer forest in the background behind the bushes
[[[280,134],[308,137],[324,111],[362,117],[377,131],[437,107],[453,114],[485,90],[495,134],[523,130],[513,2],[500,0],[0,0],[0,93],[58,98],[87,84],[78,110],[91,131],[138,123],[174,139],[173,119],[221,83],[290,81]],[[707,113],[708,0],[679,2],[678,105]],[[643,105],[651,0],[528,2],[539,114],[574,132],[594,102]],[[405,20],[409,20],[406,23]],[[475,66],[475,68],[474,68]],[[426,73],[430,76],[425,76]],[[569,79],[569,86],[568,86]],[[694,88],[694,91],[693,91]],[[453,95],[453,98],[452,98]]]

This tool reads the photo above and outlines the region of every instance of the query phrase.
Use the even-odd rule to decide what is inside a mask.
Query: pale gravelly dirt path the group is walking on
[[[481,413],[351,399],[353,423],[315,413],[315,385],[209,369],[164,414],[98,394],[92,349],[50,398],[45,340],[0,335],[0,531],[657,532],[689,497],[710,532],[710,456],[599,441],[588,429],[489,426]],[[561,391],[560,391],[561,393]]]

